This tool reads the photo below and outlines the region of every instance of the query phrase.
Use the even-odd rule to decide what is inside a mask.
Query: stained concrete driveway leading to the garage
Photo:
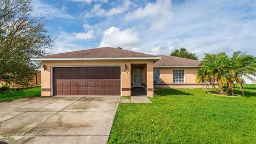
[[[0,102],[0,143],[106,143],[120,97]]]

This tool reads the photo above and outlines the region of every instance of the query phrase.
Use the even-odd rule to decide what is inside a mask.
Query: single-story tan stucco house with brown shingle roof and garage
[[[200,61],[101,47],[31,58],[41,61],[42,96],[131,95],[154,87],[196,87]],[[44,69],[45,68],[45,69]]]

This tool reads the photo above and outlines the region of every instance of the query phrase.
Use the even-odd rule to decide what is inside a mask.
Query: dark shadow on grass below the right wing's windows
[[[177,89],[158,89],[155,90],[156,96],[163,97],[163,96],[172,96],[172,95],[194,95],[187,92],[182,92]]]

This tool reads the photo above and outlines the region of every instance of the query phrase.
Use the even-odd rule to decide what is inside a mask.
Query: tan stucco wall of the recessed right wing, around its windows
[[[160,84],[156,87],[201,87],[196,83],[196,71],[198,68],[154,68],[160,69]],[[173,83],[173,70],[184,70],[185,82]]]

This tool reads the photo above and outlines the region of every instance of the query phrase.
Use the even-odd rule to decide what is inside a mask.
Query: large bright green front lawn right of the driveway
[[[108,143],[256,143],[256,86],[245,91],[159,89],[152,103],[120,103]]]

